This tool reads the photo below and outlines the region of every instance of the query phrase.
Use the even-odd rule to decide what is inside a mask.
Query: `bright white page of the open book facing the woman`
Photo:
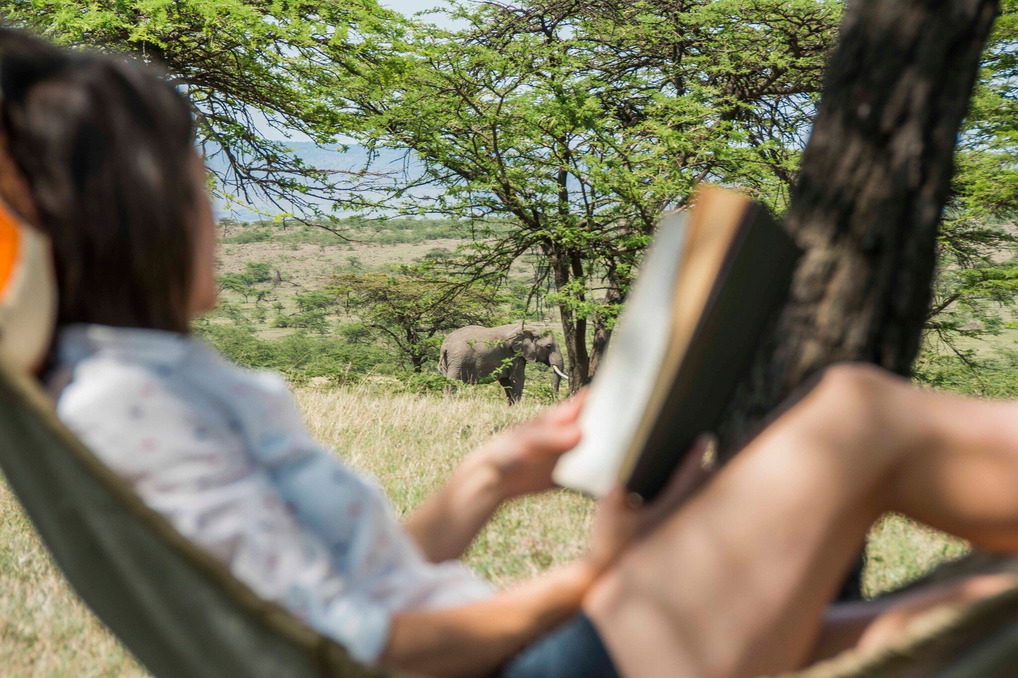
[[[587,392],[583,438],[555,467],[552,477],[563,487],[603,497],[618,483],[671,342],[686,230],[685,212],[666,214],[658,226]]]

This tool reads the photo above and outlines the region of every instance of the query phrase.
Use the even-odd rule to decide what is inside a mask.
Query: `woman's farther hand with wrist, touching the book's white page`
[[[499,433],[464,466],[487,466],[502,501],[552,489],[555,465],[579,442],[577,420],[583,397],[580,391],[544,415]]]

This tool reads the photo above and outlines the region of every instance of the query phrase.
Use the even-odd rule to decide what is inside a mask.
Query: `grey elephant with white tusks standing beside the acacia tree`
[[[466,383],[477,383],[477,379],[495,374],[512,405],[523,394],[527,363],[544,363],[552,368],[552,388],[558,395],[559,382],[569,377],[563,372],[565,364],[555,337],[519,323],[498,327],[467,325],[451,332],[442,342],[439,372]]]

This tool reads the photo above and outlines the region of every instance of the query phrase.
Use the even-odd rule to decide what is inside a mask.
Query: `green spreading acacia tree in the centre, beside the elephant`
[[[784,205],[840,13],[814,0],[461,5],[466,27],[417,25],[401,67],[367,72],[343,104],[363,143],[419,164],[390,206],[498,219],[456,262],[469,280],[546,257],[576,389],[663,209],[703,180]]]

